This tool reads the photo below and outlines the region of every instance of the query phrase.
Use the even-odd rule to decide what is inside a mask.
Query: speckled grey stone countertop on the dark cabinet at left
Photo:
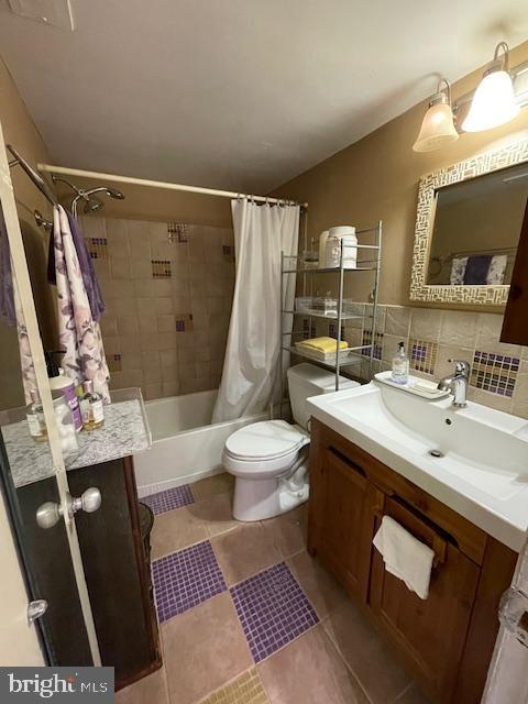
[[[135,397],[132,397],[135,395]],[[6,452],[15,486],[24,486],[53,476],[53,462],[46,442],[35,442],[26,420],[1,428]],[[66,470],[77,470],[138,454],[151,444],[151,431],[139,389],[112,393],[112,403],[105,406],[105,425],[92,432],[77,433],[79,452],[65,461]]]

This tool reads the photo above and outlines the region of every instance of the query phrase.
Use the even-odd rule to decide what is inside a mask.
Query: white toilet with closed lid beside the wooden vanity
[[[287,372],[295,424],[264,420],[231,435],[223,449],[226,470],[235,477],[233,517],[252,521],[284,514],[308,498],[310,414],[306,399],[336,391],[336,375],[315,364]],[[340,389],[359,386],[340,377]]]

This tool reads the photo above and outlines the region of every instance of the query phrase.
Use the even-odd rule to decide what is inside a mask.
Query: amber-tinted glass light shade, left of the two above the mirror
[[[446,84],[446,90],[442,90]],[[438,81],[437,92],[429,100],[420,133],[413,145],[415,152],[433,152],[459,139],[451,109],[451,86],[446,78]]]

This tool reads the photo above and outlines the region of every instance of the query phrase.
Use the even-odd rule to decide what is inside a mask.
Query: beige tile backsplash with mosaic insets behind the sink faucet
[[[363,315],[364,304],[355,304]],[[367,306],[372,310],[372,306]],[[336,337],[336,323],[312,319],[316,334]],[[471,363],[469,398],[498,410],[528,418],[528,348],[499,342],[503,316],[459,312],[405,306],[378,306],[374,341],[374,373],[391,369],[398,342],[404,341],[411,374],[440,378],[453,371],[448,360]],[[301,318],[302,337],[308,337],[309,320]],[[364,321],[346,321],[344,339],[350,346],[372,342],[372,312]],[[370,351],[365,353],[370,354]],[[349,367],[363,378],[367,365]]]

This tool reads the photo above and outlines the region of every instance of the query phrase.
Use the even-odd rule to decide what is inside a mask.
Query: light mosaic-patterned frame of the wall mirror
[[[416,212],[410,300],[429,304],[471,306],[504,306],[508,285],[428,285],[427,270],[431,251],[437,194],[440,188],[516,166],[528,161],[528,140],[520,140],[499,150],[479,154],[428,174],[420,179]]]

